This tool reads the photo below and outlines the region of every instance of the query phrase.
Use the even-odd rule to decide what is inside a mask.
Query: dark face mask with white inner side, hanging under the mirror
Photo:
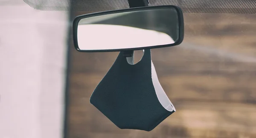
[[[120,52],[98,84],[90,103],[120,129],[151,131],[175,112],[175,107],[160,85],[150,49],[139,63]]]

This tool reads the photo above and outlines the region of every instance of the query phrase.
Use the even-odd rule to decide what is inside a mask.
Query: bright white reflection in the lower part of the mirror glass
[[[145,39],[148,40],[145,41]],[[107,24],[79,25],[77,41],[81,50],[130,49],[175,43],[172,37],[163,32]]]

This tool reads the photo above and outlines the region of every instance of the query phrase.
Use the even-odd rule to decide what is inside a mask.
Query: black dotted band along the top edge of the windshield
[[[108,11],[129,8],[128,0],[23,0],[43,11]],[[149,6],[175,5],[191,13],[255,14],[256,0],[148,0]]]

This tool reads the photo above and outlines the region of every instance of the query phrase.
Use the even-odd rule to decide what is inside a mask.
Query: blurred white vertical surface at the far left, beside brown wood
[[[68,13],[0,1],[0,138],[61,138]]]

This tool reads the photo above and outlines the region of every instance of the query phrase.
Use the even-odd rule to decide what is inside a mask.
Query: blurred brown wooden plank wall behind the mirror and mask
[[[181,45],[152,49],[177,112],[151,132],[119,129],[89,102],[118,52],[70,45],[67,138],[256,138],[256,15],[184,13],[184,20]]]

